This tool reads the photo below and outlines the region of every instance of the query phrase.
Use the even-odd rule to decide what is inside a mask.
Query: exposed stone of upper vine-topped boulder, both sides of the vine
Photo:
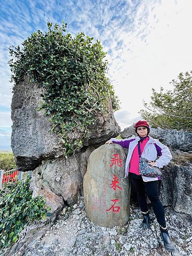
[[[50,116],[44,115],[44,110],[38,111],[43,101],[42,87],[25,81],[16,84],[12,97],[12,150],[16,157],[17,169],[20,171],[34,170],[41,161],[48,157],[60,157],[64,150],[58,144],[58,134],[50,131]],[[99,113],[96,124],[90,127],[90,137],[83,146],[102,145],[111,137],[119,135],[121,129],[117,124],[108,99],[108,113]],[[74,132],[70,138],[78,136]]]

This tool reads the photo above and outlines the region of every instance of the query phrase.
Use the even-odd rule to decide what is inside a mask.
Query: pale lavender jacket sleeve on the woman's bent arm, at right
[[[155,140],[155,147],[157,149],[157,155],[159,155],[159,159],[155,161],[155,164],[159,168],[163,168],[163,166],[168,165],[168,163],[172,160],[172,154],[169,151],[169,148],[166,145],[163,145],[159,142],[159,140]]]

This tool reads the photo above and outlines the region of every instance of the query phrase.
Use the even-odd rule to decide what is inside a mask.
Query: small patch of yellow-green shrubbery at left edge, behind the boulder
[[[13,153],[0,153],[0,169],[9,171],[15,168],[15,157]]]

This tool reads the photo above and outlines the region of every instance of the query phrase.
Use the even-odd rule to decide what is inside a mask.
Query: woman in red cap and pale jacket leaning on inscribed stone
[[[157,192],[157,180],[160,179],[160,177],[144,177],[139,174],[138,143],[140,143],[141,157],[146,158],[151,166],[157,166],[159,168],[166,166],[171,161],[172,155],[166,145],[163,145],[159,140],[155,140],[148,135],[150,129],[147,121],[138,121],[135,124],[135,131],[138,135],[137,137],[130,137],[124,140],[112,138],[105,144],[116,143],[121,145],[123,148],[129,149],[125,164],[125,177],[129,175],[136,187],[137,199],[143,213],[142,225],[144,228],[147,228],[150,227],[151,222],[145,199],[146,192],[160,225],[160,232],[163,238],[164,247],[169,251],[173,251],[175,250],[175,245],[169,236],[168,229],[166,227],[164,208]],[[159,158],[157,159],[157,157]]]

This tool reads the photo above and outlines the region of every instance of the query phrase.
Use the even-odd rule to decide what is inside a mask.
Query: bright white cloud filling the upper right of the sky
[[[152,87],[171,89],[169,82],[192,68],[192,2],[163,0],[148,6],[142,2],[135,16],[135,29],[122,37],[127,46],[122,50],[125,62],[117,57],[109,71],[122,110],[131,112],[132,117],[143,108],[143,99],[149,102]]]

